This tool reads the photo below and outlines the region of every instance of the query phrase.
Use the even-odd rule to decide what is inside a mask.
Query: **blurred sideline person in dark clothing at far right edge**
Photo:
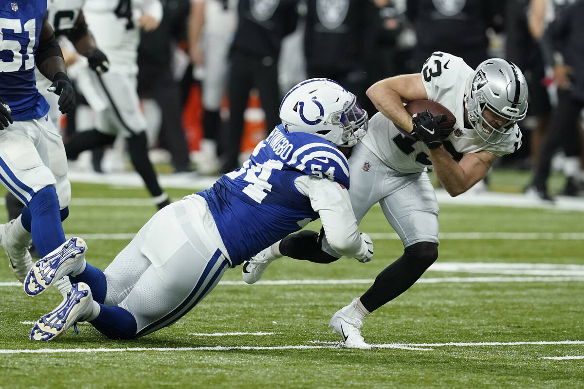
[[[578,0],[559,10],[545,31],[542,47],[547,63],[554,69],[558,105],[541,143],[538,163],[527,192],[550,201],[553,198],[548,192],[547,180],[552,156],[559,148],[563,148],[566,155],[564,173],[568,177],[561,194],[576,196],[584,187],[578,126],[584,107],[584,1]]]

